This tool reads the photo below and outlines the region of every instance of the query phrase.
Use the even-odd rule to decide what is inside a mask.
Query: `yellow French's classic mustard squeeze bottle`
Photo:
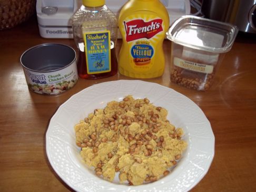
[[[119,15],[123,38],[120,74],[133,78],[163,74],[163,41],[169,22],[169,14],[159,0],[130,0],[123,6]]]

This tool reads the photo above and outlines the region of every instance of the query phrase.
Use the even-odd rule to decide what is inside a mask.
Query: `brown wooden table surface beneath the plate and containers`
[[[72,191],[51,167],[45,151],[48,123],[68,98],[80,90],[122,75],[79,79],[74,88],[59,96],[28,91],[21,54],[42,43],[63,43],[75,48],[73,39],[45,39],[36,17],[0,31],[0,191]],[[120,49],[121,41],[117,50]],[[184,94],[210,120],[215,135],[215,156],[209,172],[192,191],[256,191],[256,38],[239,35],[225,56],[214,85],[207,92],[170,82],[169,41],[162,77],[146,79]]]

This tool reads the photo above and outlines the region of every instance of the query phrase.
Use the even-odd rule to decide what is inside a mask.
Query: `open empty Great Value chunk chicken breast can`
[[[77,82],[75,50],[62,44],[42,44],[21,56],[28,88],[38,94],[58,95]]]

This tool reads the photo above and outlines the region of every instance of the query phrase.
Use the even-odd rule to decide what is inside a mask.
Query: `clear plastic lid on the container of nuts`
[[[228,52],[237,36],[237,26],[192,15],[177,19],[166,33],[176,44],[214,53]]]

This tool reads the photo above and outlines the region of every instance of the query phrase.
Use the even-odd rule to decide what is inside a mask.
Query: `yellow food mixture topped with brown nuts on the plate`
[[[166,119],[168,111],[147,98],[126,96],[75,125],[76,145],[95,174],[121,183],[141,185],[170,173],[186,149],[182,128]]]

